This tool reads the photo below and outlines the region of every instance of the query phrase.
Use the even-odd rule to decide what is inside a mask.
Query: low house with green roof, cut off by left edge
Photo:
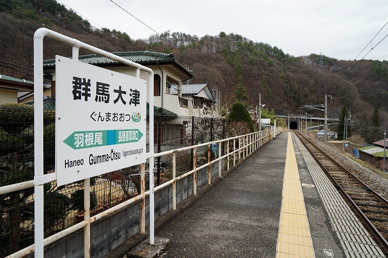
[[[32,91],[32,81],[0,75],[0,105],[5,103],[18,103],[19,93]]]

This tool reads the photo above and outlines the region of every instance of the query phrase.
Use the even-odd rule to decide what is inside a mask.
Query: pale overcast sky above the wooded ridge
[[[339,60],[388,61],[388,0],[58,0],[92,26],[132,39],[181,31],[202,37],[220,31],[268,43],[293,56],[311,53]],[[369,43],[369,44],[368,44]],[[378,44],[378,45],[377,45]],[[377,46],[376,46],[377,45]]]

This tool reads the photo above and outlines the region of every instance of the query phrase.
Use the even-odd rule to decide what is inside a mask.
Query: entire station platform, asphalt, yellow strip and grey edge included
[[[368,257],[373,242],[299,139],[283,132],[157,234],[168,257]]]

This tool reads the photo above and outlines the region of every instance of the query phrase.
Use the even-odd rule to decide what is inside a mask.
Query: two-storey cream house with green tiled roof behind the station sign
[[[185,84],[187,80],[193,78],[193,71],[180,64],[172,53],[163,54],[149,50],[117,52],[113,54],[152,69],[154,73],[154,113],[155,118],[158,118],[154,125],[154,128],[156,128],[155,133],[156,135],[160,134],[164,136],[180,135],[178,138],[183,139],[180,143],[185,144],[185,130],[191,126],[191,116],[194,112],[193,101],[182,98],[182,84]],[[78,60],[117,73],[136,76],[136,68],[97,54],[80,56]],[[43,69],[46,73],[52,75],[51,88],[55,89],[55,60],[44,61]],[[149,82],[149,75],[145,71],[140,71],[140,78]],[[53,90],[54,92],[55,90]],[[53,94],[53,97],[55,98],[55,94]],[[147,102],[149,102],[148,93]],[[166,121],[162,125],[162,128],[156,126],[157,121],[161,119]]]

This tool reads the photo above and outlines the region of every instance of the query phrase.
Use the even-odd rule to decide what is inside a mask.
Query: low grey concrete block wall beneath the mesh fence
[[[221,162],[224,171],[224,161]],[[211,166],[211,178],[218,176],[218,164]],[[197,189],[208,183],[208,167],[197,171]],[[177,204],[193,195],[193,175],[177,182]],[[173,208],[172,185],[155,192],[155,219]],[[149,198],[146,197],[146,225]],[[140,202],[91,224],[91,257],[100,258],[140,231]],[[83,229],[45,247],[45,257],[83,257]],[[33,254],[28,256],[33,257]]]

